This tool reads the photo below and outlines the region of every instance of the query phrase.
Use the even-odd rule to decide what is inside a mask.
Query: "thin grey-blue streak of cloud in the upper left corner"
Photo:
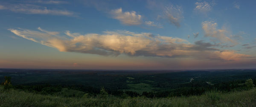
[[[51,15],[61,15],[61,16],[77,16],[72,11],[48,9],[47,7],[42,7],[38,5],[32,5],[32,4],[7,5],[3,9],[13,11],[16,13],[23,13],[23,14],[51,14]]]

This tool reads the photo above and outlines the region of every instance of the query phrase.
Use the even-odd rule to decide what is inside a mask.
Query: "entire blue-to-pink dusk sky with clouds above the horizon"
[[[256,68],[255,0],[0,0],[0,68]]]

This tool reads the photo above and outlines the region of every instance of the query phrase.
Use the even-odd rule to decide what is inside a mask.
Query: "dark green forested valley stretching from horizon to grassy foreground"
[[[173,100],[187,100],[185,98],[192,97],[198,97],[198,99],[210,97],[210,99],[222,102],[219,100],[226,95],[255,93],[253,87],[256,85],[256,70],[83,71],[0,69],[0,81],[3,82],[0,96],[2,103],[6,103],[6,100],[12,97],[6,97],[7,94],[13,93],[23,94],[24,97],[27,97],[25,94],[31,97],[49,97],[49,99],[55,99],[56,97],[60,100],[90,99],[95,103],[103,99],[104,102],[122,99],[115,101],[118,104],[120,102],[125,103],[125,99],[128,103],[133,102],[130,100],[139,98],[145,99],[145,102],[152,100],[152,102],[160,103],[169,100],[171,102],[174,102]],[[3,98],[3,96],[5,97]],[[81,102],[84,103],[85,101]]]

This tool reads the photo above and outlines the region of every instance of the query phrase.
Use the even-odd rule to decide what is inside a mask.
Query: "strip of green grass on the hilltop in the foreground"
[[[2,90],[2,87],[0,87]],[[121,99],[115,96],[66,98],[24,91],[0,91],[0,107],[256,107],[256,89],[221,93],[207,92],[201,96]]]

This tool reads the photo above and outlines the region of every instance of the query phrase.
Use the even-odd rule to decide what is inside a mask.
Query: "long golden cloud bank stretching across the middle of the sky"
[[[59,36],[38,27],[40,31],[9,29],[17,36],[53,47],[61,52],[80,52],[97,55],[126,54],[130,56],[152,56],[167,58],[198,58],[208,60],[239,60],[249,55],[235,51],[220,50],[219,44],[196,41],[190,44],[181,38],[153,35],[151,33],[133,33],[129,31],[105,31],[104,34],[70,33]]]

